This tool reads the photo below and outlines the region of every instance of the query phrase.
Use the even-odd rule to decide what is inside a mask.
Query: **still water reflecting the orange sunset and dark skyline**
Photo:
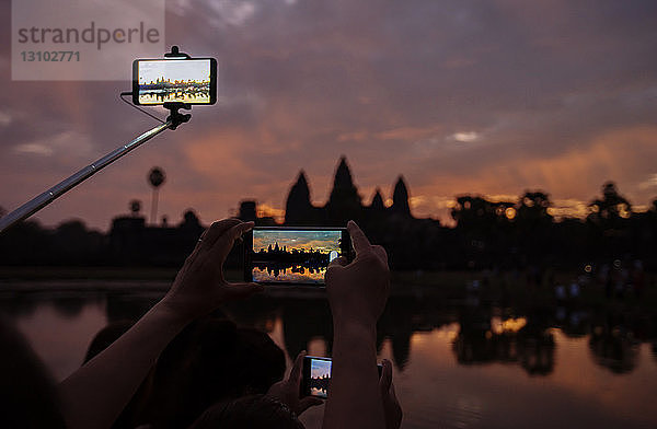
[[[10,285],[0,306],[61,380],[108,322],[137,318],[161,285]],[[54,291],[54,289],[59,291]],[[269,333],[289,356],[330,353],[321,293],[273,293],[222,309]],[[655,314],[604,309],[483,304],[415,293],[391,298],[379,357],[391,359],[403,428],[655,428]],[[302,420],[320,426],[323,407]]]

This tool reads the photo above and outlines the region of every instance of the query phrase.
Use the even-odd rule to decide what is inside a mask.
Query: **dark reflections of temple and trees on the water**
[[[152,308],[162,293],[161,290],[70,294],[16,291],[0,297],[0,312],[13,317],[26,316],[47,303],[65,317],[77,317],[85,305],[93,303],[104,309],[108,323],[135,321]],[[388,302],[379,320],[377,347],[381,351],[385,344],[383,348],[390,348],[393,362],[403,371],[416,351],[412,349],[416,347],[411,340],[414,335],[448,325],[459,326],[452,351],[460,364],[502,362],[520,366],[531,375],[550,374],[555,366],[556,347],[552,334],[555,326],[553,309],[531,308],[522,315],[500,316],[504,312],[488,304],[447,304],[441,297],[395,297]],[[325,356],[332,355],[333,323],[324,294],[253,297],[227,303],[217,315],[227,316],[240,326],[272,334],[289,357],[308,350],[310,343],[318,339],[325,345]],[[652,314],[595,310],[588,318],[590,332],[586,335],[590,358],[596,363],[614,373],[629,373],[638,364],[638,345],[643,341],[652,344],[653,357],[657,357],[657,320]],[[570,362],[562,360],[560,364]]]

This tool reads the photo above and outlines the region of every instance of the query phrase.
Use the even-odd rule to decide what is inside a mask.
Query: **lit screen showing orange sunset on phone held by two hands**
[[[254,230],[253,281],[323,283],[341,231]]]

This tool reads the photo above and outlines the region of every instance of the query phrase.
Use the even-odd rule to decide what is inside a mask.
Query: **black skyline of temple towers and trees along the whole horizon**
[[[634,212],[611,182],[603,185],[602,197],[591,201],[586,219],[555,221],[549,194],[527,190],[517,201],[461,195],[451,209],[456,225],[448,228],[413,216],[402,176],[392,204],[387,207],[383,201],[377,188],[369,205],[364,204],[342,156],[323,205],[312,204],[307,175],[300,171],[287,196],[284,223],[344,227],[353,219],[372,243],[385,247],[393,269],[574,269],[619,258],[641,259],[646,269],[657,269],[657,199],[648,211]],[[139,209],[131,211],[114,218],[107,234],[87,229],[80,220],[54,230],[23,222],[0,235],[0,259],[4,265],[33,266],[180,266],[207,228],[193,210],[177,224],[149,224]],[[256,201],[244,200],[238,217],[258,225],[277,224],[257,212]],[[241,254],[243,248],[235,248],[228,265],[239,267]]]

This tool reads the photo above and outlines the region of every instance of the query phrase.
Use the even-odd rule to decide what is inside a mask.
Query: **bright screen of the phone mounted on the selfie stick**
[[[210,103],[209,60],[164,60],[139,63],[139,103]]]

